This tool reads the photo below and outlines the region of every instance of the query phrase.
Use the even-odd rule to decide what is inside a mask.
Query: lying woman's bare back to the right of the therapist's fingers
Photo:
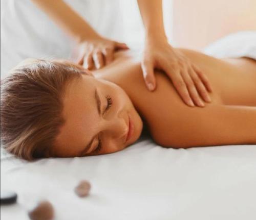
[[[256,106],[255,60],[216,59],[190,50],[182,51],[208,76],[223,104]]]

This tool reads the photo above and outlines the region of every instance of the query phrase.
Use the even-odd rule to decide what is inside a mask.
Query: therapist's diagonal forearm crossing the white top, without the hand
[[[75,41],[99,38],[98,33],[62,0],[31,0]]]

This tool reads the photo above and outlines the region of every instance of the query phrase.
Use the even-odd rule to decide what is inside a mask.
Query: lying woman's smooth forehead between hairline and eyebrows
[[[59,144],[80,145],[95,133],[98,120],[95,87],[93,80],[88,79],[69,85],[63,100],[62,116],[65,124],[57,137]]]

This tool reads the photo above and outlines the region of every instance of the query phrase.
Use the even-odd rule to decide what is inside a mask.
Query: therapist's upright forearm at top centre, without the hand
[[[166,38],[161,0],[137,0],[146,37]]]

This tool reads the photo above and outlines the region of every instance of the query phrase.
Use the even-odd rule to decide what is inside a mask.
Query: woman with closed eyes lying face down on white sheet
[[[165,147],[256,143],[256,62],[182,52],[211,82],[205,107],[185,105],[161,72],[157,89],[148,91],[140,60],[129,52],[117,53],[95,77],[67,61],[16,67],[1,82],[4,147],[28,160],[113,153],[139,138],[142,118]]]

